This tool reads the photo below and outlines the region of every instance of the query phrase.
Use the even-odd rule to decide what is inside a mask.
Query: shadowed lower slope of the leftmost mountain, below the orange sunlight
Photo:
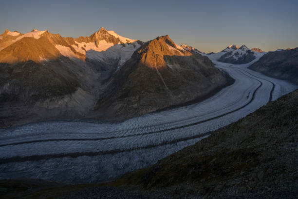
[[[96,75],[86,64],[80,66],[67,57],[42,63],[0,63],[0,127],[89,112]]]

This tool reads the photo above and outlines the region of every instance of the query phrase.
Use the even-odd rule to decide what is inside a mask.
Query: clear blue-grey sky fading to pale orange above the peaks
[[[203,52],[230,44],[293,48],[298,0],[0,0],[1,33],[37,28],[79,37],[100,27],[142,41],[169,35]]]

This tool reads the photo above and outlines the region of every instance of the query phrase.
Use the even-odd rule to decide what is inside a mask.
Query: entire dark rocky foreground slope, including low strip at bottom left
[[[0,180],[5,198],[295,199],[298,90],[153,166],[106,184]]]

